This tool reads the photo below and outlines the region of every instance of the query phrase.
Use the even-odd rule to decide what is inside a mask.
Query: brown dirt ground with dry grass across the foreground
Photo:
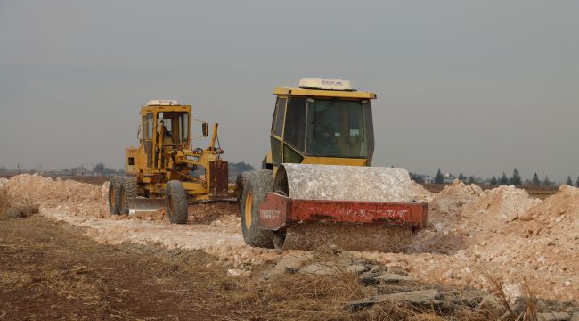
[[[442,320],[441,314],[455,319],[468,316],[471,320],[496,317],[491,310],[472,311],[473,303],[453,303],[455,292],[440,292],[444,290],[440,285],[404,281],[408,279],[404,275],[396,275],[396,284],[392,285],[380,279],[382,285],[376,287],[365,286],[356,274],[320,263],[309,267],[325,268],[322,273],[313,270],[288,274],[285,270],[295,264],[294,257],[276,266],[258,267],[254,276],[233,277],[216,257],[204,251],[167,250],[155,244],[96,243],[85,236],[85,230],[41,216],[0,220],[0,320]],[[349,257],[330,254],[318,259],[332,258],[338,262]],[[375,275],[395,276],[384,274],[385,270],[383,267]],[[425,287],[437,295],[436,307],[444,309],[430,309],[431,303],[407,307],[388,302],[376,307],[371,303],[364,309],[369,305],[364,298],[371,295],[401,290],[424,292],[421,289]],[[440,299],[448,293],[452,298]],[[475,302],[475,306],[483,300],[480,292],[471,297],[461,300]],[[348,303],[353,300],[355,303]]]

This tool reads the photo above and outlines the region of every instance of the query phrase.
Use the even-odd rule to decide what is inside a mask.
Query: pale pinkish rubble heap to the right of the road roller
[[[455,182],[429,204],[429,222],[409,254],[372,254],[425,279],[486,289],[489,277],[520,294],[526,279],[551,299],[579,298],[579,190],[542,201],[514,186],[482,191]],[[513,290],[514,289],[514,290]]]

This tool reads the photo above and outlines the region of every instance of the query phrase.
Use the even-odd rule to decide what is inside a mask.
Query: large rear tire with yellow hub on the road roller
[[[259,203],[268,192],[273,192],[273,172],[268,169],[250,172],[241,199],[241,232],[246,244],[272,249],[272,231],[257,226]]]

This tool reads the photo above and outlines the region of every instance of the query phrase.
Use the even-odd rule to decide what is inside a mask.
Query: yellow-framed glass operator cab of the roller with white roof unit
[[[370,166],[374,151],[371,99],[340,79],[307,78],[276,87],[271,166],[323,163]],[[267,163],[267,161],[266,161]]]

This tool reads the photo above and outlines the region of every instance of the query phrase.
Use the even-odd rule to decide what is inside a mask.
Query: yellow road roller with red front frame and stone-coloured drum
[[[412,185],[405,169],[371,167],[376,95],[319,78],[273,95],[271,149],[261,170],[237,180],[245,243],[404,251],[426,226],[428,207],[401,190]]]

